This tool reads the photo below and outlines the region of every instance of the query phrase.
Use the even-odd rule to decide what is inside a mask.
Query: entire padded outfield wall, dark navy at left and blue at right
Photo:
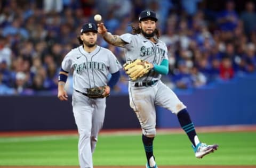
[[[200,89],[179,91],[196,126],[256,124],[256,77],[219,81]],[[71,96],[69,96],[71,98]],[[1,96],[0,131],[76,129],[71,99],[60,102],[57,96]],[[179,127],[177,117],[157,107],[157,127]],[[140,128],[129,107],[127,95],[107,98],[103,129]]]

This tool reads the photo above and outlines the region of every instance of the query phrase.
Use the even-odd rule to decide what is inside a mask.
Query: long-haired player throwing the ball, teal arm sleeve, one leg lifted
[[[216,144],[206,145],[199,141],[186,106],[160,80],[162,74],[168,73],[169,62],[166,44],[158,40],[159,32],[156,22],[155,12],[142,11],[138,27],[132,26],[133,34],[125,33],[121,36],[111,35],[103,23],[98,24],[98,32],[109,44],[125,48],[126,64],[136,59],[145,60],[150,64],[149,73],[129,81],[130,106],[137,114],[141,124],[147,168],[157,167],[153,155],[153,140],[156,135],[155,105],[165,107],[178,116],[182,129],[185,130],[193,144],[192,147],[197,158],[202,158],[218,148]]]

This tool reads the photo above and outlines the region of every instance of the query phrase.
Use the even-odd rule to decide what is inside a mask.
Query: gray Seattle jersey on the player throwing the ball
[[[125,33],[120,38],[128,43],[124,46],[126,48],[126,62],[140,59],[159,65],[163,59],[168,60],[167,47],[161,40],[156,39],[157,44],[154,44],[142,35],[131,35],[130,33]],[[161,74],[151,71],[147,76],[139,78],[137,81],[158,80],[160,78]]]

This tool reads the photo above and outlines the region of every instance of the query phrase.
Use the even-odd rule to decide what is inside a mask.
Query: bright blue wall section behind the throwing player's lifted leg
[[[237,77],[211,86],[177,92],[197,126],[256,123],[256,77]],[[175,115],[162,107],[158,110],[158,127],[179,127]]]

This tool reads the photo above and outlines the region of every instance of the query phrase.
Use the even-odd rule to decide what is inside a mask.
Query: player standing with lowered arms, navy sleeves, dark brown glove
[[[64,86],[68,72],[74,69],[72,106],[79,133],[79,165],[81,168],[92,168],[92,153],[105,117],[105,97],[117,83],[122,66],[113,53],[96,45],[95,24],[85,23],[78,40],[81,46],[72,49],[61,63],[58,98],[68,99]],[[108,81],[109,73],[111,78]]]

